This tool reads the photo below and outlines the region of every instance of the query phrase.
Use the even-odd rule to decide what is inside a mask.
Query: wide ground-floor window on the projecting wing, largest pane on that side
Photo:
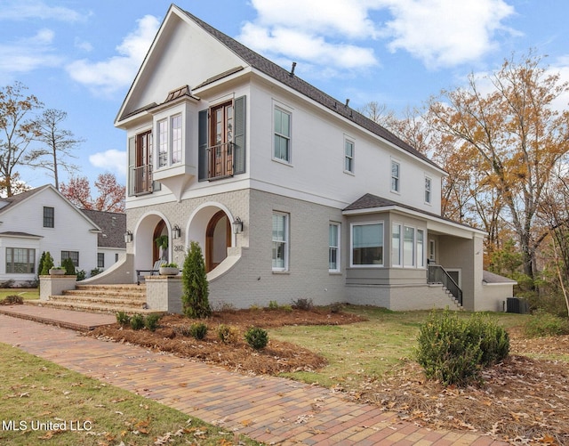
[[[383,223],[352,224],[352,265],[383,266]]]

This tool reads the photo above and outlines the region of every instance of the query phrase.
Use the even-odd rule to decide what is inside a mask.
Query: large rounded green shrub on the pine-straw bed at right
[[[509,353],[506,331],[475,315],[431,312],[421,326],[417,361],[425,375],[443,385],[469,385],[481,380],[483,368],[503,360]]]

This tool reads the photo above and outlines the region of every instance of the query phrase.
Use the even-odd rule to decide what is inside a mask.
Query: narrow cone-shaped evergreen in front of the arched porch
[[[188,318],[207,318],[212,313],[208,296],[209,289],[205,275],[204,255],[196,241],[189,244],[184,268],[181,273],[184,292],[181,301]]]

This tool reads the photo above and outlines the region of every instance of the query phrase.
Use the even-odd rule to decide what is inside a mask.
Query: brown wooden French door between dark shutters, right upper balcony
[[[233,174],[233,102],[212,107],[210,111],[209,177]]]

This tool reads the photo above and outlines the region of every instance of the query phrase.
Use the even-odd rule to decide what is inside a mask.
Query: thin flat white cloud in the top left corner
[[[68,22],[84,20],[79,12],[63,6],[48,6],[40,0],[7,0],[0,8],[0,20],[52,19]]]

